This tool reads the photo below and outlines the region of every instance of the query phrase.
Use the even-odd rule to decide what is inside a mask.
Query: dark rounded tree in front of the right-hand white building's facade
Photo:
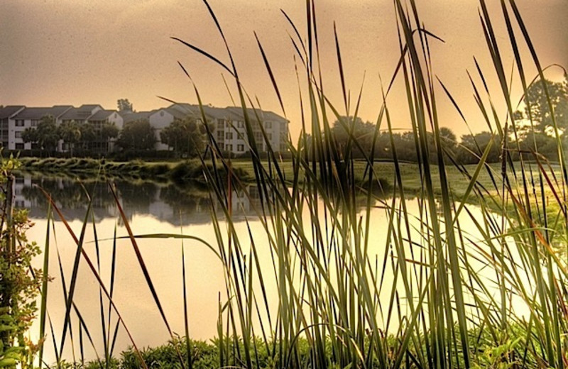
[[[170,123],[160,132],[160,140],[176,153],[189,156],[201,153],[205,147],[204,133],[191,117]]]

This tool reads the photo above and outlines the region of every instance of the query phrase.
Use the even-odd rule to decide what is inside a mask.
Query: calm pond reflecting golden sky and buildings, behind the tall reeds
[[[212,209],[217,209],[219,204],[215,204],[214,200],[209,198],[207,189],[195,186],[180,187],[174,184],[120,180],[115,181],[114,184],[126,219],[135,235],[158,233],[189,235],[200,238],[213,248],[218,247],[212,225]],[[37,241],[43,248],[48,226],[50,227],[49,274],[53,277],[53,281],[50,282],[48,290],[48,314],[53,324],[53,333],[57,344],[60,343],[65,316],[65,299],[58,258],[61,260],[61,270],[65,276],[65,282],[69,285],[77,246],[58,216],[53,216],[54,221],[48,222],[47,200],[38,187],[45,189],[52,195],[77,237],[79,237],[84,224],[87,204],[89,203],[85,191],[89,192],[93,199],[92,216],[88,218],[89,224],[87,224],[85,233],[84,250],[99,268],[99,275],[108,287],[111,280],[114,236],[116,233],[118,238],[116,239],[113,300],[124,319],[124,324],[128,327],[139,348],[158,346],[168,341],[170,334],[163,323],[158,307],[156,307],[151,290],[148,288],[131,241],[128,238],[120,238],[127,236],[128,233],[117,211],[109,185],[105,182],[80,182],[65,178],[25,175],[16,180],[15,192],[16,206],[29,209],[30,217],[35,223],[35,226],[28,231],[28,238]],[[248,192],[249,197],[244,197],[238,192],[233,192],[231,196],[233,224],[236,234],[242,236],[241,246],[246,248],[245,254],[251,252],[251,243],[255,243],[263,273],[269,276],[265,281],[268,310],[275,311],[278,308],[278,290],[275,282],[271,282],[270,278],[274,275],[274,255],[268,246],[266,230],[257,216],[257,211],[261,208],[261,200],[253,187],[249,188]],[[367,254],[369,260],[376,260],[378,265],[385,259],[386,249],[390,245],[387,231],[389,218],[385,206],[383,206],[390,201],[389,199],[376,199],[369,208],[371,226],[368,229]],[[359,216],[363,216],[366,209],[365,200],[361,204]],[[420,199],[410,199],[406,202],[406,205],[408,206],[408,214],[419,216]],[[320,204],[320,208],[321,214],[319,216],[323,217],[325,216],[323,204]],[[472,217],[481,216],[481,210],[476,206],[469,206],[469,211]],[[310,219],[310,212],[307,209],[302,209],[302,216],[306,220]],[[226,228],[226,221],[222,219],[222,216],[220,217],[219,228]],[[476,230],[474,222],[471,221],[471,217],[462,216],[460,222],[461,229],[469,234],[472,239],[476,239],[476,234],[479,234],[479,232]],[[310,230],[310,221],[305,222],[305,227],[307,231]],[[418,243],[420,243],[422,231],[423,228],[417,223],[410,226],[410,233]],[[95,233],[97,243],[94,242]],[[214,252],[204,246],[204,243],[192,239],[138,238],[137,243],[163,305],[165,316],[172,331],[179,336],[185,336],[182,283],[182,247],[184,248],[190,336],[204,340],[217,336],[219,299],[224,303],[227,297],[223,265]],[[410,255],[412,250],[408,246],[405,247]],[[40,267],[42,260],[43,255],[38,258],[38,267]],[[383,284],[392,286],[393,283],[396,283],[400,285],[400,281],[393,282],[392,269],[395,268],[394,263],[389,262],[384,265],[384,268],[390,270],[390,272],[383,274],[385,278]],[[484,265],[480,264],[479,269],[483,268]],[[331,267],[330,270],[333,272],[334,268]],[[494,277],[493,273],[488,276],[488,279],[491,280]],[[255,288],[258,288],[258,286]],[[384,297],[386,302],[388,302],[390,296],[390,288],[381,291],[381,299]],[[102,297],[102,307],[100,301],[99,284],[82,259],[74,302],[94,342],[94,348],[92,348],[83,334],[84,355],[87,358],[94,358],[95,351],[99,356],[102,355],[102,337],[109,335],[109,327],[111,331],[114,331],[116,325],[116,314],[111,314],[110,324],[108,321],[108,299]],[[101,324],[102,314],[105,316],[104,327]],[[261,319],[266,319],[266,312],[261,312],[259,315]],[[74,354],[75,358],[79,357],[77,347],[80,324],[77,315],[72,314],[72,316],[73,342],[67,337],[64,351],[64,357],[68,360],[72,359]],[[255,324],[258,325],[259,318],[254,319],[256,320]],[[384,323],[385,321],[383,321]],[[38,334],[37,324],[33,331],[35,335]],[[46,331],[49,332],[49,328]],[[55,360],[55,353],[50,334],[45,345],[45,361],[51,363]],[[129,336],[122,327],[119,328],[114,347],[115,355],[130,345]],[[73,347],[75,352],[72,349]]]

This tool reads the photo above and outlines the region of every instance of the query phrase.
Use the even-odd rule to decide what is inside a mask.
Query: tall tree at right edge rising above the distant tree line
[[[536,133],[548,133],[553,126],[552,113],[548,104],[545,87],[550,96],[550,103],[555,112],[555,119],[558,128],[565,130],[568,128],[568,79],[564,76],[564,82],[552,82],[545,79],[544,83],[540,79],[528,87],[525,94],[525,114],[515,112],[515,118],[531,119]],[[522,126],[518,123],[520,131],[526,131],[526,124]]]

